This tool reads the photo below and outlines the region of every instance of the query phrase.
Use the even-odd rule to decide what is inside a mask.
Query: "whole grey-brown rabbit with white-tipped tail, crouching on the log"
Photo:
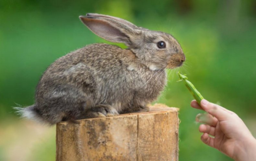
[[[148,111],[167,81],[166,68],[185,55],[173,36],[113,16],[88,13],[80,20],[94,34],[128,48],[90,44],[53,62],[36,87],[35,103],[15,109],[41,123]]]

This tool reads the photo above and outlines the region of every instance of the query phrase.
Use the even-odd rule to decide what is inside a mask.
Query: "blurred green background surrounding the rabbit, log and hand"
[[[180,161],[231,160],[204,145],[193,99],[177,71],[204,98],[236,112],[256,136],[255,0],[1,0],[0,160],[55,160],[55,127],[19,119],[11,107],[33,104],[36,85],[59,57],[87,44],[106,42],[78,16],[118,16],[137,26],[172,34],[186,63],[168,71],[156,102],[180,108]]]

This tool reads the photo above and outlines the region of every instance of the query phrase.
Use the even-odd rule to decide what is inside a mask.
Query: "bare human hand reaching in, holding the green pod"
[[[191,106],[207,112],[196,116],[196,121],[205,123],[199,126],[205,144],[237,161],[256,160],[256,140],[236,113],[206,100],[201,106],[193,100]]]

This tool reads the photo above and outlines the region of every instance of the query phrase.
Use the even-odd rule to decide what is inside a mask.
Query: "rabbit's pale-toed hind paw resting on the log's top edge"
[[[116,115],[119,115],[119,113],[111,105],[99,104],[87,111],[86,118],[107,117]]]

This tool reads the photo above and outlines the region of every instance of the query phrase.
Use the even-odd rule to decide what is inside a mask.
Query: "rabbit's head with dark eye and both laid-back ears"
[[[180,44],[167,33],[137,27],[124,19],[107,15],[87,14],[80,19],[99,37],[125,43],[150,70],[176,68],[185,61]]]

